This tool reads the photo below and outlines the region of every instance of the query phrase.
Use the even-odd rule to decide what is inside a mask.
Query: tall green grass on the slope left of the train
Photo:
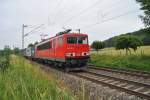
[[[66,87],[37,66],[13,55],[8,69],[0,71],[0,100],[73,100]]]

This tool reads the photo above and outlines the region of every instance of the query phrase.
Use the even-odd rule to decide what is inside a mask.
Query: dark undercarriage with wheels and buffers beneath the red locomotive
[[[34,61],[38,61],[40,63],[46,63],[49,65],[53,65],[55,67],[59,67],[63,69],[65,72],[69,71],[79,71],[79,70],[86,70],[87,62],[89,57],[82,58],[82,59],[75,59],[75,58],[67,58],[66,60],[59,60],[59,59],[33,59]]]

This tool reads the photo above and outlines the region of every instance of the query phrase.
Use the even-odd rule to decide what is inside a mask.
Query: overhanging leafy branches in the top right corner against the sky
[[[141,5],[141,10],[144,11],[144,16],[140,16],[146,27],[150,26],[150,1],[149,0],[136,0]]]

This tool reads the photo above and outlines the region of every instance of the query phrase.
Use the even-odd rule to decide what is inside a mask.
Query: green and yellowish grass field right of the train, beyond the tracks
[[[91,54],[91,62],[97,66],[113,68],[131,68],[150,72],[150,46],[138,48],[136,52],[131,50],[131,55],[125,54],[125,50],[105,48],[98,54]]]

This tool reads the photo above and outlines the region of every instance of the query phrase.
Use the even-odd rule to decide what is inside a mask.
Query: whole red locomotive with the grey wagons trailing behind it
[[[88,35],[66,30],[33,47],[24,49],[26,58],[62,67],[65,71],[86,69],[90,59]]]

